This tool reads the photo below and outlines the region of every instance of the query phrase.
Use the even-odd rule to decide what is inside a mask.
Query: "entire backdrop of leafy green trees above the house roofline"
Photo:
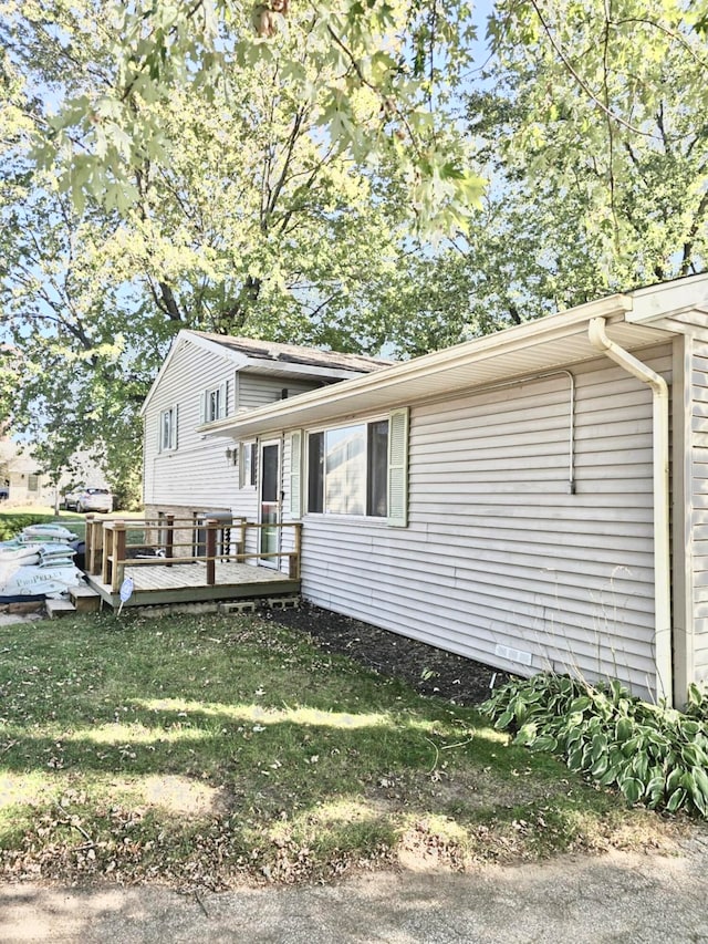
[[[483,68],[461,0],[0,12],[0,395],[48,468],[128,478],[181,326],[405,356],[705,267],[708,0],[499,0]]]

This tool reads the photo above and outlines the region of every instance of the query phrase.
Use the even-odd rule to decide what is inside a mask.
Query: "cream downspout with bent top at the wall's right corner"
[[[652,387],[654,442],[654,658],[657,697],[674,703],[671,658],[671,561],[669,546],[669,436],[668,384],[647,364],[607,338],[604,318],[587,324],[590,343],[625,371]]]

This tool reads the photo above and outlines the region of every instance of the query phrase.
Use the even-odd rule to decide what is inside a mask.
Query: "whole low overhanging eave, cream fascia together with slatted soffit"
[[[587,331],[593,318],[606,319],[607,334],[617,344],[638,350],[681,333],[685,325],[673,322],[670,315],[687,307],[708,309],[708,276],[677,280],[654,290],[610,295],[398,362],[334,387],[227,417],[212,424],[208,432],[235,438],[275,433],[552,373],[598,356]]]

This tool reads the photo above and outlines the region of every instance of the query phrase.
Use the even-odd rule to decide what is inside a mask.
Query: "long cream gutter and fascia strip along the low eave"
[[[270,432],[278,426],[285,429],[306,422],[306,412],[327,404],[332,415],[343,415],[351,409],[356,411],[357,397],[367,392],[384,392],[395,390],[399,385],[426,376],[439,375],[441,372],[460,365],[472,365],[499,354],[523,352],[533,345],[551,343],[572,334],[577,334],[579,328],[585,325],[592,318],[624,320],[631,307],[626,295],[615,294],[598,301],[589,302],[569,311],[550,314],[537,321],[508,328],[496,334],[488,334],[475,341],[466,341],[454,347],[446,347],[431,354],[424,354],[412,361],[404,361],[366,374],[351,381],[343,381],[333,386],[311,393],[299,394],[289,400],[277,401],[274,404],[258,407],[248,414],[229,417],[219,423],[200,427],[207,435],[230,434],[235,438],[251,435],[261,426]],[[293,418],[294,417],[294,418]]]

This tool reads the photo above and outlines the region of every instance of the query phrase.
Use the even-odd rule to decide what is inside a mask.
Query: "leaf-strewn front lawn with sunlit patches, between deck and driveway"
[[[656,843],[471,708],[272,622],[0,627],[0,871],[180,888]]]

